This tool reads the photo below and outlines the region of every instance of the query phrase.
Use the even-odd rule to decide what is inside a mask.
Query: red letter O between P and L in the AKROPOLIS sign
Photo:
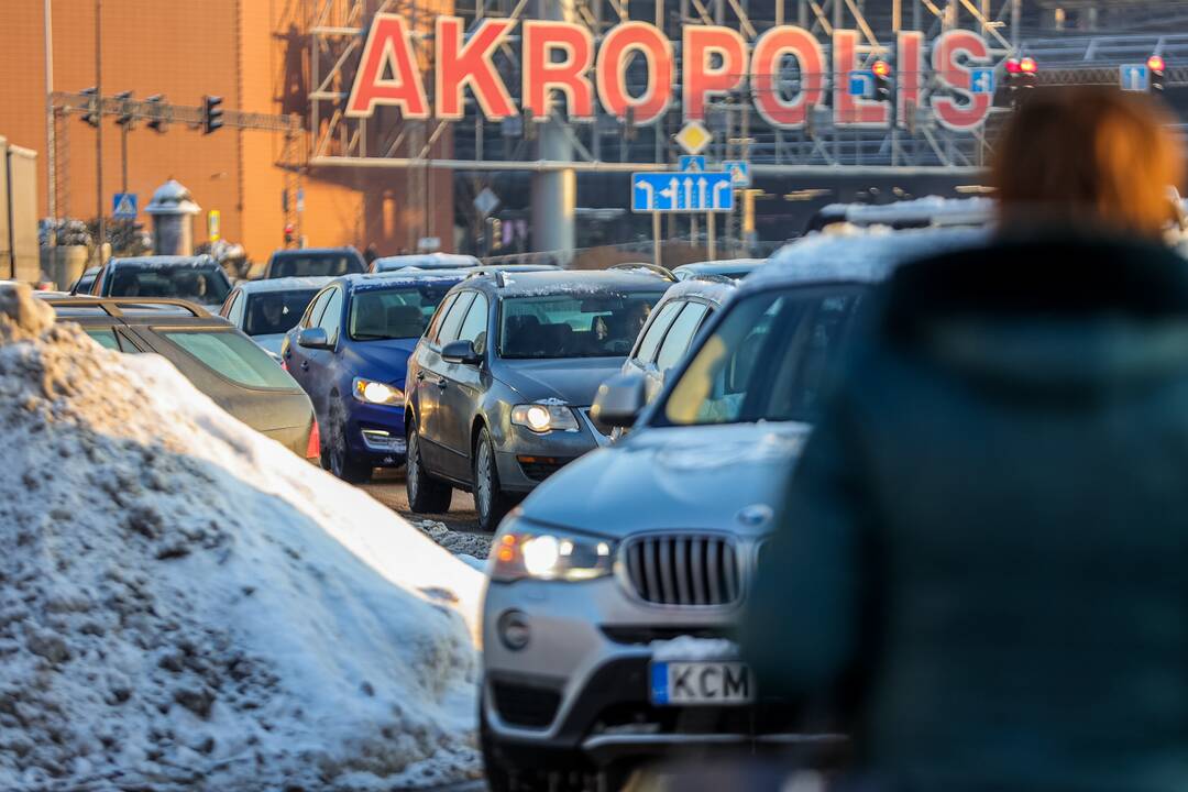
[[[796,57],[801,71],[801,90],[791,101],[779,91],[779,68],[789,55]],[[809,109],[824,97],[824,50],[803,27],[772,27],[754,43],[751,84],[754,87],[754,107],[767,123],[784,128],[802,127]]]

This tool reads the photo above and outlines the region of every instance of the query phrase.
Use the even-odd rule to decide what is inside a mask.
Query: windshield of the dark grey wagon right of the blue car
[[[503,357],[625,357],[663,292],[510,297],[499,327]]]

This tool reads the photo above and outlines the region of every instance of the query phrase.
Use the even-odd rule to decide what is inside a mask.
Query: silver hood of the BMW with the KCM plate
[[[767,533],[808,432],[795,423],[637,430],[555,474],[524,502],[523,517],[608,537]]]

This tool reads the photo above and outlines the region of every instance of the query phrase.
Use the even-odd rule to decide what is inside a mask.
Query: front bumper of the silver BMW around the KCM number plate
[[[484,620],[487,729],[518,764],[579,759],[606,766],[674,749],[764,746],[832,750],[841,737],[801,728],[798,714],[760,697],[748,705],[651,703],[652,641],[733,633],[738,608],[676,609],[636,602],[617,577],[586,583],[492,583]],[[517,610],[529,628],[519,651],[499,622]],[[762,691],[760,691],[762,693]]]

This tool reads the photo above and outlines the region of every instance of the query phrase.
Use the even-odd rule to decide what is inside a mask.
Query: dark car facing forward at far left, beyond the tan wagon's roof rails
[[[230,279],[209,255],[110,259],[90,286],[95,297],[184,299],[215,309],[229,291]]]

